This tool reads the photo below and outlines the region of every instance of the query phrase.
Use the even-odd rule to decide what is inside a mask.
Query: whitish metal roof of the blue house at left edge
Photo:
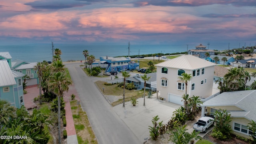
[[[0,60],[0,87],[16,84],[7,60]]]

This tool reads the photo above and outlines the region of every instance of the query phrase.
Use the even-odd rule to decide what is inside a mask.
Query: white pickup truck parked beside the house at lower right
[[[198,122],[196,122],[193,126],[193,128],[200,132],[207,132],[207,128],[210,126],[214,126],[214,118],[204,116],[199,118]]]

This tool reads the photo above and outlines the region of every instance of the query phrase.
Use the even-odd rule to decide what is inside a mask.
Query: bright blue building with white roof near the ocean
[[[139,67],[139,64],[136,62],[131,62],[129,58],[114,58],[114,57],[100,57],[100,62],[101,64],[108,64],[106,67],[106,72],[111,72],[111,71],[118,71],[122,69],[127,69],[127,70],[136,70]]]

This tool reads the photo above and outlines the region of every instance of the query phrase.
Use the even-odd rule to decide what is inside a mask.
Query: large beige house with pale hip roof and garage
[[[192,76],[188,81],[187,94],[207,98],[212,95],[215,65],[189,54],[156,64],[156,89],[166,101],[183,105],[181,100],[185,94],[185,83],[178,77],[186,72]]]

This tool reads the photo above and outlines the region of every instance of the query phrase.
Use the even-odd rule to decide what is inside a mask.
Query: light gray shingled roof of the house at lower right
[[[236,92],[223,92],[201,106],[236,106],[244,111],[230,111],[233,117],[244,117],[256,120],[256,90],[242,90]]]

